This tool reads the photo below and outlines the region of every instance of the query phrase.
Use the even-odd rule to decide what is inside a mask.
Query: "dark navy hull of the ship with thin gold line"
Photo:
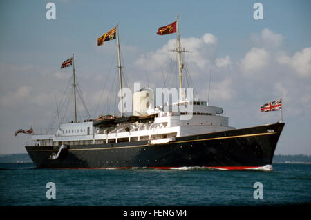
[[[284,123],[148,141],[67,146],[26,146],[38,168],[258,168],[272,164]]]

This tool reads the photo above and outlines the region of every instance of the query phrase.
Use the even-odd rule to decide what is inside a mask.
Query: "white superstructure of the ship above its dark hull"
[[[164,106],[149,110],[156,117],[154,121],[121,123],[101,128],[93,122],[62,123],[55,134],[33,134],[33,145],[61,146],[100,143],[120,143],[131,141],[152,141],[170,137],[183,137],[191,134],[205,134],[232,130],[228,126],[228,118],[222,116],[223,109],[207,106],[205,101],[182,101],[175,105],[192,105],[193,112],[189,120],[181,120],[186,112],[165,112]],[[149,114],[151,115],[151,114]]]

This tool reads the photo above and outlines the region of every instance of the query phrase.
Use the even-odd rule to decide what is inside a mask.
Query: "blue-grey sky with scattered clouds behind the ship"
[[[46,18],[49,2],[56,19]],[[263,19],[254,19],[257,2]],[[260,106],[282,98],[285,128],[275,153],[311,155],[310,8],[303,0],[0,1],[0,154],[26,153],[31,137],[15,137],[19,128],[57,127],[57,108],[61,118],[73,115],[65,102],[72,68],[60,69],[72,54],[91,117],[115,111],[116,41],[97,46],[97,37],[117,22],[124,85],[178,86],[176,54],[169,51],[176,34],[156,32],[179,15],[198,97],[207,100],[211,74],[209,103],[222,107],[235,128],[279,121],[281,112]],[[78,113],[86,115],[82,106]]]

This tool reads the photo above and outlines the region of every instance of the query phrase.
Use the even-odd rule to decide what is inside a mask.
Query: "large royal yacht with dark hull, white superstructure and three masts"
[[[179,99],[154,105],[154,92],[133,92],[133,114],[101,115],[97,119],[59,123],[56,132],[34,132],[26,150],[37,168],[207,168],[219,170],[272,170],[272,159],[285,123],[249,128],[229,126],[223,108],[185,96],[178,17],[162,30],[177,32]],[[110,39],[117,39],[119,86],[122,65],[118,24]],[[160,30],[160,28],[159,28]],[[117,34],[117,37],[114,35]],[[104,37],[107,37],[106,35]],[[73,57],[72,57],[73,58]],[[76,89],[73,65],[73,88]],[[76,99],[76,95],[75,95]],[[142,104],[142,99],[147,104]],[[76,105],[76,101],[74,102]],[[191,107],[191,111],[182,108]],[[177,110],[176,110],[177,109]],[[183,117],[183,119],[182,119]]]

